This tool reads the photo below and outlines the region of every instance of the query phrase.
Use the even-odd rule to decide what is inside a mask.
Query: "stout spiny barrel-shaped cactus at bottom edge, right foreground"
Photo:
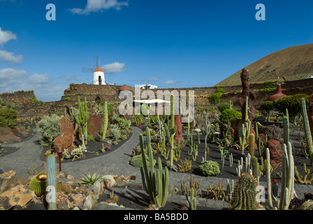
[[[247,173],[241,174],[231,196],[231,209],[256,209],[256,186],[257,181],[253,175]]]

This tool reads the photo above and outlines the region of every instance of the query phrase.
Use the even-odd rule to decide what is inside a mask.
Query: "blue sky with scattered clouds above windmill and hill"
[[[48,3],[56,20],[45,18]],[[265,6],[257,21],[256,5]],[[57,101],[92,83],[213,86],[266,55],[313,43],[312,1],[0,0],[0,93],[34,90]]]

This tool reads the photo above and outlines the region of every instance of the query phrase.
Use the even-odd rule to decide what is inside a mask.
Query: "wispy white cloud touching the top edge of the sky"
[[[115,8],[120,10],[122,6],[128,6],[129,3],[126,1],[119,0],[87,0],[87,5],[85,9],[82,8],[71,8],[70,11],[74,14],[87,15],[89,13],[95,13],[103,10],[108,10],[109,8]]]

